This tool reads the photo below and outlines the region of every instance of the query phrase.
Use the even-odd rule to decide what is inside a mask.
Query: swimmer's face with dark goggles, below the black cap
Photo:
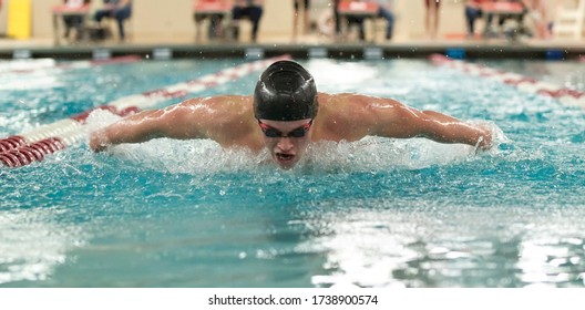
[[[264,143],[273,159],[284,169],[292,168],[305,154],[312,134],[312,120],[268,121],[258,120]]]

